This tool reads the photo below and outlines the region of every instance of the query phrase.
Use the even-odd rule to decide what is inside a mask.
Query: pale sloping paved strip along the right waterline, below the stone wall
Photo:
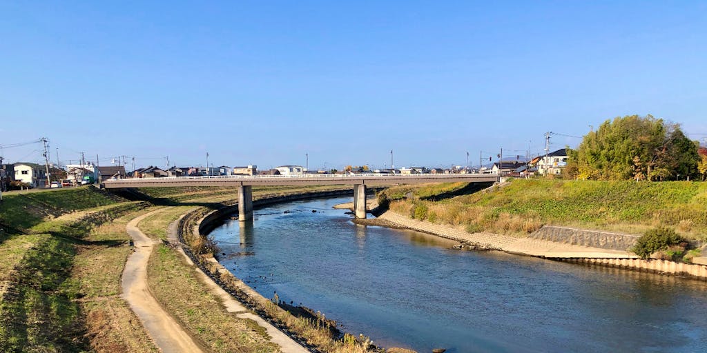
[[[510,237],[508,235],[493,233],[469,233],[464,229],[458,229],[448,225],[438,225],[431,222],[413,220],[409,217],[399,215],[392,211],[387,211],[378,218],[393,222],[402,227],[436,234],[440,237],[464,241],[468,243],[479,243],[490,246],[494,249],[517,253],[520,255],[539,256],[544,258],[638,258],[628,251],[615,251],[590,246],[578,246],[571,244],[561,244],[554,241],[532,238]]]

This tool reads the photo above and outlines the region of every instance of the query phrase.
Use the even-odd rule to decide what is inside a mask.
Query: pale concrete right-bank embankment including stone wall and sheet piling
[[[642,260],[633,253],[617,250],[633,244],[635,239],[629,234],[612,234],[583,229],[564,227],[549,227],[540,229],[529,237],[510,237],[492,233],[469,233],[446,225],[413,220],[409,217],[387,212],[380,213],[380,220],[390,222],[398,227],[413,229],[419,232],[434,234],[439,237],[453,239],[462,243],[479,244],[486,249],[496,249],[524,256],[549,258],[556,261],[584,263],[592,265],[607,265],[650,273],[683,275],[707,280],[707,265],[674,263],[662,260]],[[385,226],[385,223],[380,223]],[[558,230],[560,229],[560,230]],[[573,237],[563,239],[561,234],[573,234]],[[554,239],[560,241],[551,241]],[[580,244],[595,244],[603,247],[584,246]],[[624,247],[624,249],[626,249]]]

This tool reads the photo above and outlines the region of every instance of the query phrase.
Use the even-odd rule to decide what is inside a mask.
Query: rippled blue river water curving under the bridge
[[[707,352],[707,284],[452,249],[355,225],[327,198],[255,211],[211,235],[264,297],[325,313],[376,345],[418,352]],[[312,213],[312,210],[317,211]]]

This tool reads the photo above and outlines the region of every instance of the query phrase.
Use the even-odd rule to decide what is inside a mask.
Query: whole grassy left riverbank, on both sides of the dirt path
[[[340,187],[254,188],[254,198],[333,189]],[[233,203],[238,193],[230,188],[165,188],[122,196],[92,187],[4,196],[0,352],[158,350],[120,297],[122,271],[132,253],[127,223],[158,210],[139,227],[165,239],[167,226],[180,215]],[[151,290],[189,335],[213,352],[279,350],[254,322],[228,313],[190,266],[175,249],[160,245],[148,272]]]

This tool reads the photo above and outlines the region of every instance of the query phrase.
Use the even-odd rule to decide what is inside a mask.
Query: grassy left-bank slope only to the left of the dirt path
[[[103,227],[146,207],[88,187],[4,196],[0,351],[153,350],[117,297],[127,234]]]

